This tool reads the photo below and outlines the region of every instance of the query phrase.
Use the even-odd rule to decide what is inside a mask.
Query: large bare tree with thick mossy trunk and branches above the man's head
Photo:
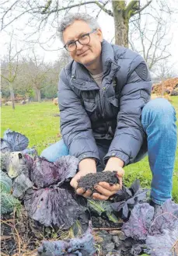
[[[112,5],[110,4],[112,2]],[[145,5],[141,5],[140,1],[132,0],[127,4],[127,1],[81,1],[81,0],[47,0],[40,1],[34,0],[33,2],[28,0],[12,0],[1,5],[2,13],[2,29],[5,29],[9,24],[14,23],[17,19],[20,19],[24,15],[28,15],[28,24],[36,27],[36,32],[44,30],[44,28],[50,24],[51,27],[57,28],[58,23],[63,15],[71,9],[78,8],[78,11],[82,6],[96,6],[96,17],[99,13],[106,12],[109,16],[113,16],[115,23],[115,41],[116,44],[127,47],[128,45],[128,24],[132,16],[142,12],[150,5],[152,0],[146,2]],[[110,7],[108,7],[110,6]],[[33,31],[32,34],[35,32]],[[29,37],[29,36],[28,36]],[[54,34],[51,35],[49,40],[54,39]]]

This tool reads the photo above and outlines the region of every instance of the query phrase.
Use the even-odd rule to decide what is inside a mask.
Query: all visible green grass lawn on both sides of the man
[[[178,96],[172,96],[171,99],[178,119]],[[16,110],[12,110],[9,106],[2,106],[1,135],[3,137],[3,132],[7,128],[21,132],[30,140],[29,146],[36,146],[40,154],[43,149],[60,139],[59,117],[55,117],[54,114],[58,114],[58,106],[54,106],[52,102],[17,105]],[[139,163],[125,167],[124,170],[126,173],[124,180],[127,185],[139,178],[142,187],[150,187],[152,173],[147,157]],[[178,203],[178,148],[173,177],[173,198]]]

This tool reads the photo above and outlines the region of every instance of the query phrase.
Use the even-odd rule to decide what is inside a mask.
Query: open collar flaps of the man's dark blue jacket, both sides
[[[102,65],[103,65],[103,75],[106,76],[106,79],[113,79],[113,75],[119,68],[117,62],[114,60],[114,51],[113,47],[106,40],[102,42]],[[93,82],[91,75],[89,75],[89,71],[87,68],[80,64],[79,62],[73,61],[72,63],[72,82],[75,80],[75,86],[79,89],[98,89],[96,83]],[[89,88],[85,88],[90,83]],[[91,83],[94,83],[93,85]],[[78,86],[77,86],[78,85]]]

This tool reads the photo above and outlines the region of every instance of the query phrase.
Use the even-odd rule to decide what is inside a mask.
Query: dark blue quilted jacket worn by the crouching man
[[[145,138],[141,110],[150,99],[152,82],[144,59],[125,47],[102,43],[103,80],[99,88],[89,71],[71,61],[58,84],[61,135],[72,156],[99,161],[96,141],[110,139],[110,156],[127,165]]]

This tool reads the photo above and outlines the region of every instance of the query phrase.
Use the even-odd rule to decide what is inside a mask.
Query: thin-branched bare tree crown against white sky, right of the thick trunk
[[[164,19],[162,11],[157,13],[152,8],[140,16],[145,16],[145,19],[138,17],[130,25],[129,46],[145,58],[148,68],[152,70],[170,56],[169,45],[172,39],[166,40],[169,21]]]

